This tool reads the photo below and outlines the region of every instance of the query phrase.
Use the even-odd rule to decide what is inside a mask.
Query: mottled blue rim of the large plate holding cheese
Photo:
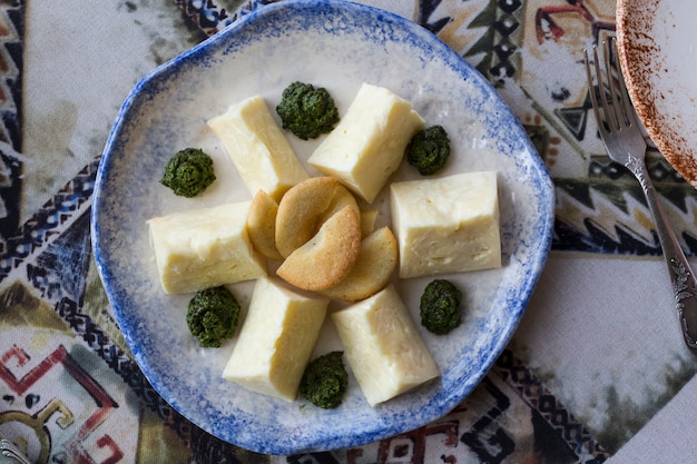
[[[216,49],[230,47],[230,43],[233,43],[234,40],[240,37],[244,39],[245,34],[249,33],[251,29],[254,29],[256,24],[263,23],[268,18],[283,16],[285,12],[302,14],[303,11],[307,12],[311,17],[316,14],[317,11],[323,11],[325,13],[342,12],[351,13],[352,17],[356,18],[369,18],[372,21],[385,21],[390,23],[392,28],[406,32],[406,34],[410,36],[409,40],[414,43],[419,43],[422,48],[425,48],[433,53],[439,53],[441,57],[444,57],[449,66],[461,73],[462,79],[474,80],[479,88],[483,90],[485,96],[494,101],[494,108],[500,118],[507,119],[511,125],[518,127],[520,137],[514,140],[514,144],[533,155],[533,159],[530,160],[529,168],[531,171],[534,171],[533,177],[536,182],[539,184],[539,188],[543,190],[543,195],[540,196],[540,204],[538,205],[538,209],[541,211],[541,220],[539,224],[536,224],[534,235],[532,235],[533,237],[539,237],[539,241],[526,245],[534,248],[534,253],[532,253],[534,259],[531,263],[528,263],[529,267],[527,268],[527,273],[521,277],[523,285],[520,288],[511,289],[510,294],[507,294],[507,302],[510,303],[507,307],[507,315],[510,316],[510,319],[497,334],[495,343],[492,346],[488,346],[488,349],[483,351],[482,357],[479,359],[482,368],[475,373],[475,375],[468,378],[460,378],[461,382],[458,383],[454,391],[439,391],[431,403],[419,409],[416,417],[412,417],[412,415],[409,414],[400,415],[399,421],[392,423],[381,423],[377,424],[376,428],[369,428],[360,433],[348,435],[336,436],[333,435],[331,431],[326,431],[326,433],[322,436],[313,436],[307,441],[303,441],[302,437],[293,437],[292,440],[286,440],[286,437],[283,436],[259,437],[258,434],[264,433],[263,427],[259,428],[257,435],[254,433],[238,434],[236,431],[239,428],[254,426],[254,424],[251,423],[254,422],[254,419],[246,416],[218,416],[216,417],[216,421],[213,422],[205,419],[202,421],[202,418],[198,417],[196,405],[187,404],[186,399],[176,397],[170,389],[170,386],[166,382],[163,382],[161,375],[151,369],[153,366],[148,362],[147,356],[141,353],[137,339],[135,338],[135,328],[127,323],[128,319],[125,314],[128,312],[128,302],[126,302],[122,297],[124,289],[118,287],[118,283],[116,282],[117,276],[115,276],[110,270],[109,263],[111,259],[110,253],[112,250],[109,249],[109,244],[104,241],[102,233],[100,230],[100,218],[102,215],[108,214],[105,211],[105,198],[108,195],[105,192],[105,184],[107,182],[106,178],[114,159],[118,156],[118,150],[122,148],[122,142],[119,139],[126,130],[127,117],[131,111],[135,111],[135,107],[140,105],[143,89],[154,85],[158,78],[166,78],[171,73],[176,73],[178,69],[186,66],[187,61],[200,58],[200,56],[204,55],[208,48]],[[464,61],[448,45],[414,22],[374,7],[346,2],[343,0],[284,0],[282,2],[271,3],[259,8],[240,18],[237,22],[228,26],[216,36],[207,39],[200,45],[192,48],[189,51],[174,58],[149,72],[135,86],[119,110],[116,122],[109,134],[97,172],[91,211],[91,238],[98,272],[105,283],[105,289],[114,308],[117,322],[121,326],[125,339],[131,349],[136,362],[143,369],[148,381],[151,383],[153,387],[164,397],[164,399],[169,402],[175,409],[190,419],[194,424],[218,438],[254,452],[281,455],[305,451],[325,451],[359,446],[394,436],[442,417],[462,399],[464,399],[491,368],[497,357],[512,337],[520,318],[524,313],[528,300],[539,279],[539,275],[551,247],[553,204],[554,194],[551,178],[549,177],[541,158],[537,156],[537,151],[522,129],[522,126],[514,117],[508,105],[498,95],[493,86],[491,86],[491,83],[482,75],[480,75],[479,71]]]

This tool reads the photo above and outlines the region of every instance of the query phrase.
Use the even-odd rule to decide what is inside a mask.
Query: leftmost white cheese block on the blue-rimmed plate
[[[192,293],[266,275],[266,260],[247,235],[249,204],[174,213],[147,221],[166,293]]]

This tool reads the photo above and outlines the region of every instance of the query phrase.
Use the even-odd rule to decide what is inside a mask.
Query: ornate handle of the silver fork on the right
[[[668,265],[683,338],[690,352],[697,355],[697,282],[695,275],[668,223],[668,217],[649,178],[646,165],[630,156],[625,166],[639,180],[646,196],[656,225],[658,240],[664,250],[664,258]]]

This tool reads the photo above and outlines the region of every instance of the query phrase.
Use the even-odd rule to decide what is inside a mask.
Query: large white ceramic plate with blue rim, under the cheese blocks
[[[423,332],[442,376],[371,407],[353,376],[343,404],[323,411],[246,391],[220,378],[235,339],[202,349],[185,322],[190,295],[166,295],[146,220],[176,210],[251,198],[206,120],[255,93],[271,108],[293,80],[326,87],[346,110],[363,81],[411,100],[429,125],[450,134],[446,176],[497,170],[503,267],[446,276],[465,294],[462,325],[448,336]],[[317,141],[288,136],[305,160]],[[218,180],[199,198],[159,185],[185,147],[214,158]],[[395,179],[419,178],[404,164]],[[385,189],[386,190],[386,189]],[[445,415],[489,371],[510,339],[547,258],[553,188],[541,159],[501,98],[472,67],[424,29],[389,12],[342,1],[284,1],[239,22],[146,76],[132,90],[97,175],[92,239],[97,265],[132,354],[153,386],[196,425],[245,448],[291,454],[354,446]],[[389,224],[386,192],[374,205]],[[397,283],[414,315],[426,278]],[[233,290],[246,306],[252,283]],[[323,328],[316,353],[341,347]]]

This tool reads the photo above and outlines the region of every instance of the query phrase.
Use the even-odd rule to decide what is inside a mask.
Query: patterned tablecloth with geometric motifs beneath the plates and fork
[[[102,4],[105,3],[105,4]],[[374,0],[455,49],[513,108],[556,184],[552,254],[510,345],[441,419],[379,443],[264,456],[206,434],[129,355],[89,239],[99,154],[148,70],[265,1],[0,2],[0,432],[36,463],[687,462],[696,361],[681,345],[638,184],[610,162],[582,50],[603,0]],[[697,192],[649,170],[697,254]],[[1,461],[1,457],[0,457]]]

